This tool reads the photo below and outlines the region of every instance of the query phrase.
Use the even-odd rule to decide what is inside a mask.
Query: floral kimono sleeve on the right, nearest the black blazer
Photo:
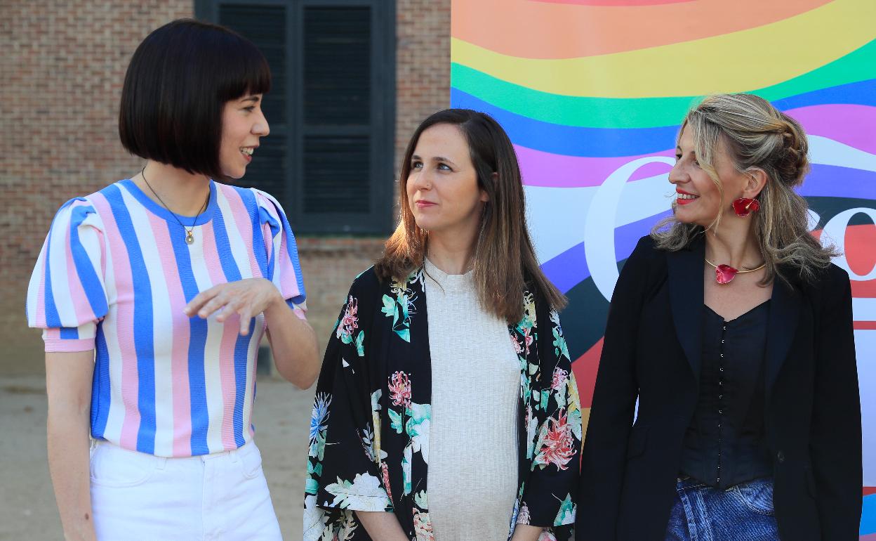
[[[540,304],[540,403],[533,401],[535,411],[527,411],[525,420],[526,424],[537,424],[538,429],[517,523],[547,528],[553,536],[548,538],[568,539],[577,510],[581,403],[560,316],[555,310],[543,309],[543,301]],[[543,321],[548,324],[541,324]]]

